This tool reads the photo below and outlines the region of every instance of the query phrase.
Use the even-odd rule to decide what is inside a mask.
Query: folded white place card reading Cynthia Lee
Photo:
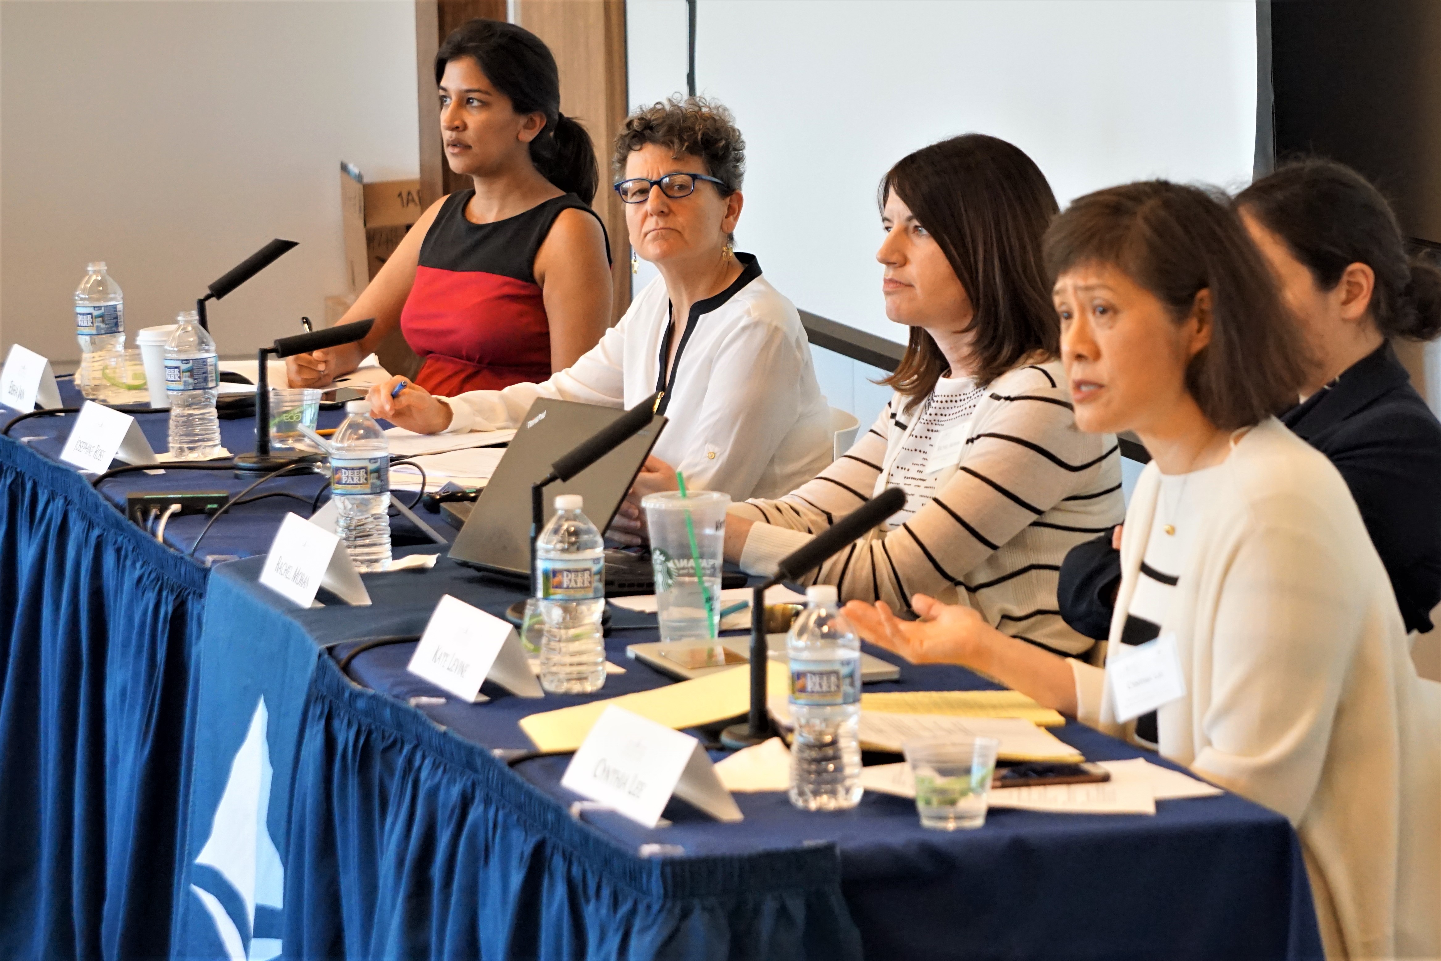
[[[699,741],[615,705],[595,720],[561,787],[650,828],[673,794],[719,821],[744,820]]]

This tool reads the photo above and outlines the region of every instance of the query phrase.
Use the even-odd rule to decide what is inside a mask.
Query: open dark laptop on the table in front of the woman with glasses
[[[444,504],[447,514],[463,519],[450,556],[467,566],[529,586],[530,582],[530,484],[550,473],[562,454],[592,437],[625,411],[574,401],[540,398],[516,429],[496,473],[474,504]],[[545,488],[545,519],[555,514],[558,494],[579,494],[582,510],[602,532],[611,526],[641,464],[656,445],[664,416],[656,416],[635,437],[595,461],[569,481]],[[728,575],[745,585],[744,575]],[[726,586],[736,586],[726,584]],[[654,594],[650,556],[628,550],[605,552],[605,594]]]

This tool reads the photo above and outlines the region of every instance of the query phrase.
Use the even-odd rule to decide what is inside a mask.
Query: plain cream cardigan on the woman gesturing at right
[[[1161,633],[1186,696],[1160,754],[1291,820],[1329,958],[1441,954],[1441,684],[1411,661],[1386,571],[1340,474],[1270,419],[1232,439]],[[1125,514],[1111,650],[1160,473]],[[1078,716],[1115,735],[1107,674],[1074,664]]]

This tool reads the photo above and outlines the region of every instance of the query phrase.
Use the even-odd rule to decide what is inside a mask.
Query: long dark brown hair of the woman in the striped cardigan
[[[1022,360],[1061,349],[1040,239],[1056,197],[1040,167],[1014,144],[963,134],[904,157],[880,182],[883,209],[895,192],[945,252],[974,316],[973,376],[981,386]],[[950,365],[921,327],[901,365],[880,383],[915,406]]]

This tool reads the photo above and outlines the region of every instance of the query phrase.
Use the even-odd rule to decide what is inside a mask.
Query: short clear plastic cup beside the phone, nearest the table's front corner
[[[986,823],[996,738],[916,738],[901,745],[915,778],[921,827],[968,830]]]

